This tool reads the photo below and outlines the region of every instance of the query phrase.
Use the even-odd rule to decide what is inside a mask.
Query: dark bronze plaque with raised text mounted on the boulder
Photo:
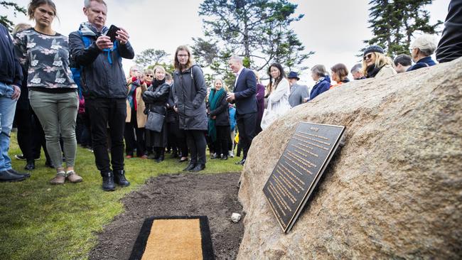
[[[300,122],[263,193],[285,233],[289,232],[338,148],[345,126]]]

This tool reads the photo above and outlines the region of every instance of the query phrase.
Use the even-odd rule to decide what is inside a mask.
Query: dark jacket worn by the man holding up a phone
[[[83,67],[80,83],[85,99],[127,97],[122,58],[133,59],[135,53],[129,42],[122,45],[117,40],[114,50],[100,50],[95,41],[107,30],[104,27],[100,33],[90,23],[82,23],[79,31],[69,35],[70,57],[76,66]],[[85,48],[82,36],[90,38],[88,48]]]

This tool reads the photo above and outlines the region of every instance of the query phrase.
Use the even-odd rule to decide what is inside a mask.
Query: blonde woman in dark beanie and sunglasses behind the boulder
[[[362,55],[362,72],[366,78],[387,77],[397,74],[392,66],[392,59],[385,56],[384,50],[377,45],[370,45]]]

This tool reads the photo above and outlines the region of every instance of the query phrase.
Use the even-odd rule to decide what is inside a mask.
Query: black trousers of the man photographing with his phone
[[[113,170],[124,169],[124,128],[127,117],[125,99],[85,99],[90,113],[90,129],[95,163],[101,173],[111,170],[107,152],[107,126],[111,137],[111,164]]]

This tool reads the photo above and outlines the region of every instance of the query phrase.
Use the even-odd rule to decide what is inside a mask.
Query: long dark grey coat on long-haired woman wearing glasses
[[[176,70],[173,82],[173,99],[180,117],[180,129],[207,131],[207,88],[200,67],[193,65],[183,72]]]

